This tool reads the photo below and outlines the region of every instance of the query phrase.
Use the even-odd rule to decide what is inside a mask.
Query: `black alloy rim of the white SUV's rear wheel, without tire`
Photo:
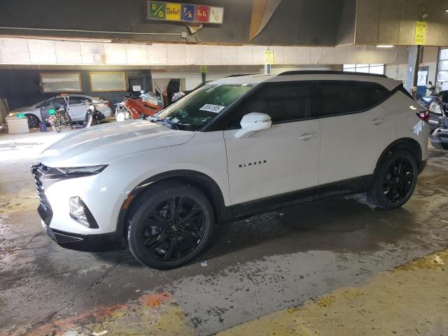
[[[407,158],[397,158],[386,169],[383,178],[383,190],[386,199],[400,203],[412,190],[414,181],[414,167]]]

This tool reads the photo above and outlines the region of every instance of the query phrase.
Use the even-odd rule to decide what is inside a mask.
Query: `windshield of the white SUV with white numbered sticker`
[[[150,120],[179,130],[198,130],[210,123],[253,86],[206,84],[163,109]]]

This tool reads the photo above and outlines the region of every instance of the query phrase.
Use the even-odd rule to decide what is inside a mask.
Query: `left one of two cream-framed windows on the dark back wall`
[[[41,73],[41,90],[48,92],[81,92],[79,73]]]

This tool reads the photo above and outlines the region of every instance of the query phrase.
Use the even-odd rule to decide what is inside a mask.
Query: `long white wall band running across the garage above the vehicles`
[[[0,64],[56,65],[260,65],[265,45],[151,45],[0,38]],[[272,46],[274,64],[400,64],[407,62],[407,47],[381,50],[369,45],[337,47]],[[94,62],[94,55],[100,55]]]

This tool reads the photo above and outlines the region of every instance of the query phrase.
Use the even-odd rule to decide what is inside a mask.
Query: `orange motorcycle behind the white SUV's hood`
[[[155,95],[141,91],[137,96],[132,92],[125,95],[122,103],[116,104],[116,120],[124,121],[130,119],[141,119],[153,116],[163,108],[162,101]]]

